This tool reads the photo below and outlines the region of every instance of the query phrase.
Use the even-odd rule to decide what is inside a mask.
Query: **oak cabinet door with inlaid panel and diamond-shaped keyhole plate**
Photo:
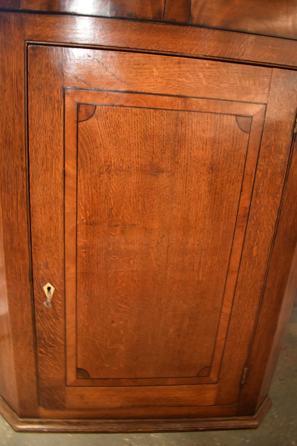
[[[109,409],[114,416],[135,408],[137,417],[139,408],[163,408],[166,416],[180,407],[180,415],[218,398],[236,405],[248,301],[242,294],[242,313],[234,315],[232,303],[271,72],[29,46],[43,407]],[[47,282],[55,288],[51,306],[44,304]],[[230,322],[236,347],[228,346]]]

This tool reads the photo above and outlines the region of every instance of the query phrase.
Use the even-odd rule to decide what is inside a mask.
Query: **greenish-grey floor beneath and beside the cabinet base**
[[[270,391],[273,407],[259,429],[172,434],[22,434],[0,417],[0,445],[9,446],[297,446],[297,301]]]

